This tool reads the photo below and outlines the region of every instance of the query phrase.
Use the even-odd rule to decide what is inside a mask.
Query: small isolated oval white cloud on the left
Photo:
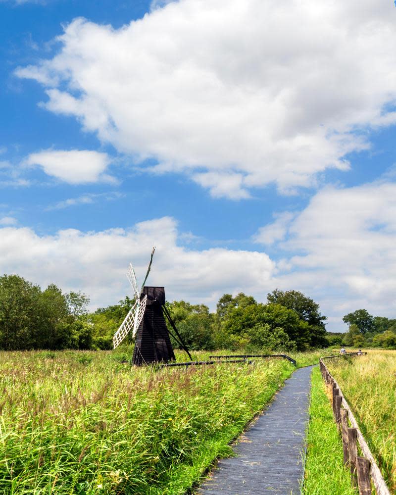
[[[47,175],[69,184],[114,182],[112,177],[103,173],[109,163],[106,153],[77,149],[46,149],[32,153],[26,160],[27,165],[40,165]]]

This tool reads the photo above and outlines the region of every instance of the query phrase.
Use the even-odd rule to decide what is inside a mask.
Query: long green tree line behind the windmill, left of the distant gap
[[[81,292],[45,290],[18,275],[0,277],[0,349],[111,349],[112,338],[134,300],[88,312]],[[274,290],[265,302],[240,293],[220,297],[215,312],[205,304],[166,303],[191,350],[304,350],[329,345],[326,316],[298,291]],[[126,339],[132,343],[131,336]],[[173,341],[174,347],[178,343]]]

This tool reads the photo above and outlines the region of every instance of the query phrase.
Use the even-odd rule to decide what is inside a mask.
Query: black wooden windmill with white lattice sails
[[[140,291],[138,290],[135,270],[132,263],[129,264],[127,277],[132,286],[135,303],[113,337],[113,347],[115,349],[132,330],[132,338],[135,341],[132,361],[133,364],[137,365],[175,360],[175,354],[169,338],[169,330],[165,323],[165,317],[168,319],[172,329],[177,335],[177,337],[175,337],[171,334],[172,337],[187,352],[190,359],[192,359],[165,307],[164,288],[145,286],[148,274],[150,273],[154,251],[155,247],[152,248],[146,277]]]

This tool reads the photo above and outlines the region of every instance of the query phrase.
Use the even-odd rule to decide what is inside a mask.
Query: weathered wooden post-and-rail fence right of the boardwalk
[[[351,354],[357,355],[357,352],[348,355]],[[359,495],[371,495],[372,481],[377,495],[391,495],[340,386],[323,362],[323,359],[336,357],[342,356],[320,358],[319,366],[326,385],[332,389],[333,415],[343,438],[344,464],[349,465],[352,486],[358,487]],[[348,420],[351,424],[350,428]],[[363,456],[357,455],[357,443]]]

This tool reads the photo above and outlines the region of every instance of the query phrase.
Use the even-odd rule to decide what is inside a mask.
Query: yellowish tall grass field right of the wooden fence
[[[369,351],[358,358],[329,359],[385,481],[396,493],[396,351]]]

